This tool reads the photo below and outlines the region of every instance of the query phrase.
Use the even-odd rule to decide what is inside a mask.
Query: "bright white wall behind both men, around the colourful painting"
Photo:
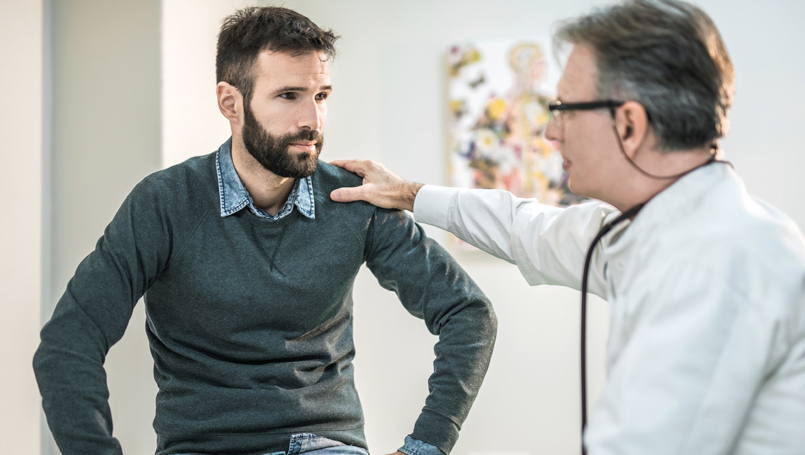
[[[163,6],[163,161],[213,150],[228,136],[214,100],[214,40],[223,15],[242,2],[166,0]],[[267,4],[269,2],[264,2]],[[275,2],[280,4],[279,2]],[[499,0],[288,0],[342,35],[332,67],[323,158],[372,158],[422,182],[446,180],[448,46],[463,40],[543,36],[558,19],[600,2]],[[188,6],[197,5],[191,14]],[[805,93],[805,32],[799,1],[703,0],[738,74],[727,157],[750,191],[805,226],[798,170]],[[439,232],[429,232],[442,241]],[[571,454],[579,446],[578,293],[529,288],[516,268],[479,254],[459,260],[495,303],[498,344],[485,385],[454,453]],[[395,449],[427,393],[433,339],[368,273],[356,286],[357,385],[370,449]],[[592,302],[591,395],[604,384],[606,306]],[[527,435],[528,438],[511,437]]]

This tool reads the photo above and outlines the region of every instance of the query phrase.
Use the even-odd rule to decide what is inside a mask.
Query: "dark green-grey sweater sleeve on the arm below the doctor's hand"
[[[430,393],[411,437],[450,453],[489,366],[497,334],[492,305],[404,212],[376,210],[366,263],[381,286],[439,336]]]

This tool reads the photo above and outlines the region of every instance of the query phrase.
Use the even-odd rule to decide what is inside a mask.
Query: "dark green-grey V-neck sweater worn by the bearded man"
[[[364,262],[439,336],[411,436],[448,453],[492,353],[486,297],[405,213],[330,201],[355,175],[319,163],[315,219],[221,217],[215,159],[138,184],[42,329],[34,367],[64,455],[121,453],[103,363],[143,295],[158,454],[263,454],[305,432],[365,448],[352,365]]]

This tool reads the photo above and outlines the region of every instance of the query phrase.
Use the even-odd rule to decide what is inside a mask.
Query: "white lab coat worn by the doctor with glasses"
[[[618,214],[430,185],[414,206],[531,285],[575,289]],[[691,172],[606,235],[588,289],[610,304],[590,455],[805,454],[805,240],[728,165]]]

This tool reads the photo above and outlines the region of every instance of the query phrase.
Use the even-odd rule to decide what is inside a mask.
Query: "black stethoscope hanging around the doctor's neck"
[[[613,117],[612,126],[613,126],[613,128],[615,128],[614,112],[613,112],[612,117]],[[732,166],[732,163],[730,163],[729,161],[722,161],[722,160],[717,160],[716,159],[718,146],[714,144],[711,147],[712,148],[712,155],[710,156],[710,158],[706,162],[694,167],[693,169],[687,170],[685,172],[681,172],[679,174],[669,175],[669,176],[653,175],[653,174],[650,174],[650,173],[644,171],[643,169],[641,169],[634,161],[632,161],[631,158],[629,158],[629,156],[626,154],[626,151],[623,149],[623,144],[620,141],[620,136],[618,135],[617,129],[615,130],[615,135],[616,135],[616,137],[618,137],[618,143],[620,145],[621,152],[623,153],[623,156],[626,157],[626,160],[629,163],[631,163],[631,165],[635,169],[637,169],[641,174],[643,174],[643,175],[645,175],[647,177],[651,177],[651,178],[655,178],[655,179],[677,179],[677,178],[683,177],[683,176],[695,171],[696,169],[699,169],[701,167],[707,166],[707,165],[715,163],[715,162],[726,163],[726,164],[729,164],[730,166]],[[631,218],[634,218],[635,216],[637,216],[637,214],[640,212],[640,210],[643,208],[643,206],[645,206],[647,203],[648,203],[648,201],[640,203],[640,204],[637,204],[634,207],[630,208],[629,210],[626,210],[625,212],[621,213],[614,220],[612,220],[609,223],[605,224],[601,228],[601,230],[598,231],[598,234],[596,234],[596,236],[593,238],[593,241],[590,243],[590,247],[587,249],[587,256],[584,259],[584,271],[582,272],[582,277],[581,277],[581,334],[580,334],[580,338],[581,338],[581,345],[580,345],[581,346],[581,370],[580,370],[581,371],[581,453],[582,453],[582,455],[587,455],[587,449],[584,447],[584,429],[587,427],[587,281],[588,281],[589,274],[590,274],[590,262],[592,261],[593,252],[595,251],[595,246],[598,244],[598,242],[601,241],[601,239],[605,235],[607,235],[610,231],[612,231],[612,229],[615,226],[619,225],[620,223],[622,223],[622,222],[624,222],[624,221],[626,221],[628,219],[631,219]]]

